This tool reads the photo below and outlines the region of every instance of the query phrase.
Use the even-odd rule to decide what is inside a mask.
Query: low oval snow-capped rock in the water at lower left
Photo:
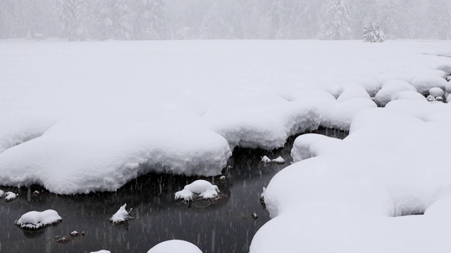
[[[58,215],[58,212],[48,209],[42,212],[31,211],[23,214],[14,223],[16,226],[23,229],[39,229],[44,226],[49,226],[61,222],[63,219]]]

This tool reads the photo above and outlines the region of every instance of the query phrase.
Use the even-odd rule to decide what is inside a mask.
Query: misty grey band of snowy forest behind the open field
[[[0,0],[0,39],[451,39],[450,0]]]

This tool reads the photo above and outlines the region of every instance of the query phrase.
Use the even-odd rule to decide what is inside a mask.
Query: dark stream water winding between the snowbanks
[[[320,134],[344,138],[346,133],[322,129]],[[91,252],[108,249],[111,252],[147,252],[159,242],[186,240],[204,253],[249,252],[257,230],[269,220],[259,196],[263,186],[280,169],[291,162],[290,138],[285,148],[256,150],[236,148],[228,164],[233,169],[223,171],[226,181],[216,178],[147,174],[127,183],[116,193],[89,195],[54,195],[43,192],[33,196],[40,186],[30,188],[0,187],[20,197],[12,202],[0,200],[0,252]],[[264,165],[261,157],[282,156],[285,164]],[[190,207],[174,200],[174,193],[197,179],[216,184],[228,197],[218,202],[196,202]],[[136,219],[114,226],[109,222],[121,205],[127,203]],[[14,221],[22,214],[54,209],[63,218],[56,226],[34,233],[22,231]],[[256,213],[254,220],[250,214]],[[85,236],[71,238],[60,244],[55,236],[70,238],[72,231],[85,231]]]

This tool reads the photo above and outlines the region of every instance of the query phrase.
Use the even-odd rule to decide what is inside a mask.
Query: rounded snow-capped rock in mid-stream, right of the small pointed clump
[[[218,197],[218,186],[212,185],[209,181],[197,180],[185,186],[183,190],[175,193],[175,200],[190,201],[194,197],[210,199]]]

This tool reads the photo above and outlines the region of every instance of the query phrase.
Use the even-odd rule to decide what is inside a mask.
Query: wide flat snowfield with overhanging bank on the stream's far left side
[[[218,175],[236,145],[350,129],[385,82],[449,89],[449,54],[445,41],[0,41],[0,184],[70,194],[149,169]],[[383,100],[413,97],[407,84]]]

